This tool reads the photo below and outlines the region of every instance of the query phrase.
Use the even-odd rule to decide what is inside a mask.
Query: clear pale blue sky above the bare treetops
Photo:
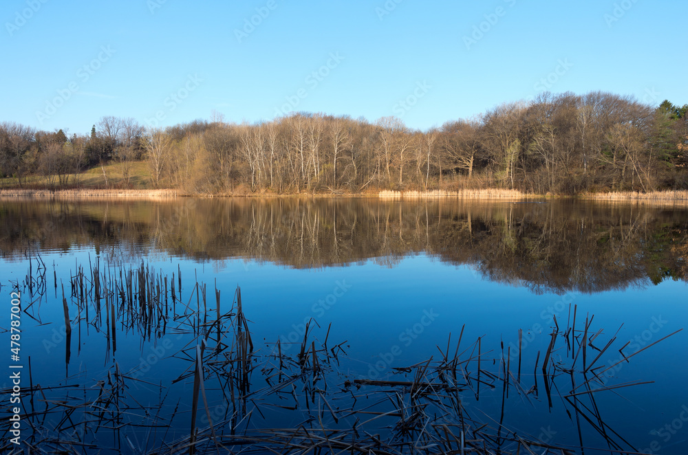
[[[427,129],[547,89],[685,104],[686,18],[685,0],[3,0],[0,121],[310,111]]]

